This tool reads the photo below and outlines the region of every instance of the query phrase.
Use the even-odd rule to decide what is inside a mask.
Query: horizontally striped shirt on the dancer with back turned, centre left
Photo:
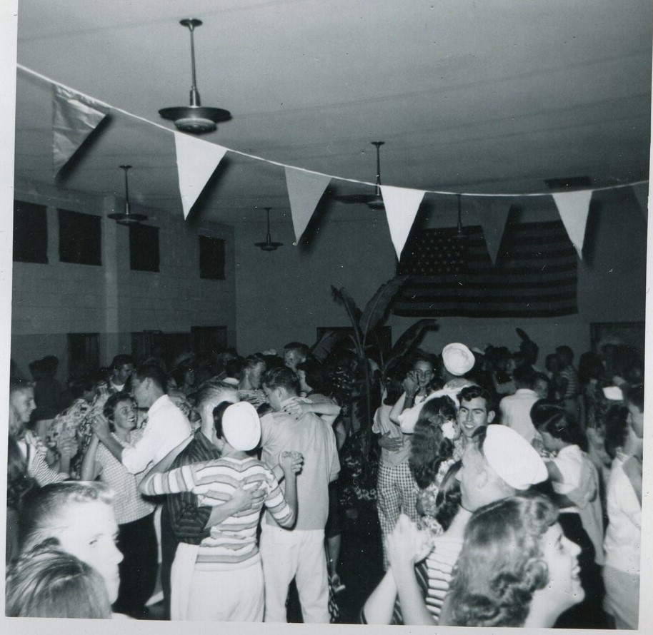
[[[244,563],[249,565],[249,561],[259,557],[256,527],[263,504],[281,527],[289,527],[294,519],[279,482],[269,467],[251,457],[222,457],[183,465],[163,474],[153,474],[141,487],[150,495],[192,491],[197,495],[199,504],[212,507],[229,501],[239,484],[244,489],[262,489],[264,503],[238,512],[211,527],[209,537],[199,545],[196,561],[198,564],[236,567]]]

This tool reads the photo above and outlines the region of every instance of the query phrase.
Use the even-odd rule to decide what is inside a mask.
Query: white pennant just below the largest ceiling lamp
[[[188,218],[197,197],[222,161],[227,148],[181,132],[174,133],[174,147],[177,153],[181,206],[184,208],[184,218]]]

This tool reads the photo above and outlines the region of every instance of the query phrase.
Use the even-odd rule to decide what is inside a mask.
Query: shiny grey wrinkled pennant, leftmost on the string
[[[54,86],[52,153],[59,172],[109,112],[109,106],[90,97]]]

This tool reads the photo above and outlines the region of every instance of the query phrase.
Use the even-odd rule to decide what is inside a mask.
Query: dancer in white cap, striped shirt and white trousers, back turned
[[[159,464],[146,474],[140,489],[149,496],[193,492],[199,504],[214,507],[211,513],[221,517],[220,522],[211,522],[207,527],[209,535],[199,549],[185,552],[193,567],[187,568],[172,596],[173,619],[263,621],[263,569],[256,545],[261,507],[265,505],[281,527],[294,526],[296,474],[301,469],[302,457],[289,450],[279,454],[285,477],[282,492],[272,470],[249,454],[261,439],[261,421],[254,406],[247,402],[221,402],[214,408],[213,417],[213,442],[221,453],[219,459],[183,465],[168,472]],[[243,509],[240,486],[258,490],[262,496],[252,497],[251,506]],[[177,565],[175,559],[173,576]]]

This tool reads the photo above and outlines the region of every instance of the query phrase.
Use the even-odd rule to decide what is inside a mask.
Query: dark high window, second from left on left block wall
[[[57,210],[59,214],[59,260],[76,265],[102,264],[100,216]]]

